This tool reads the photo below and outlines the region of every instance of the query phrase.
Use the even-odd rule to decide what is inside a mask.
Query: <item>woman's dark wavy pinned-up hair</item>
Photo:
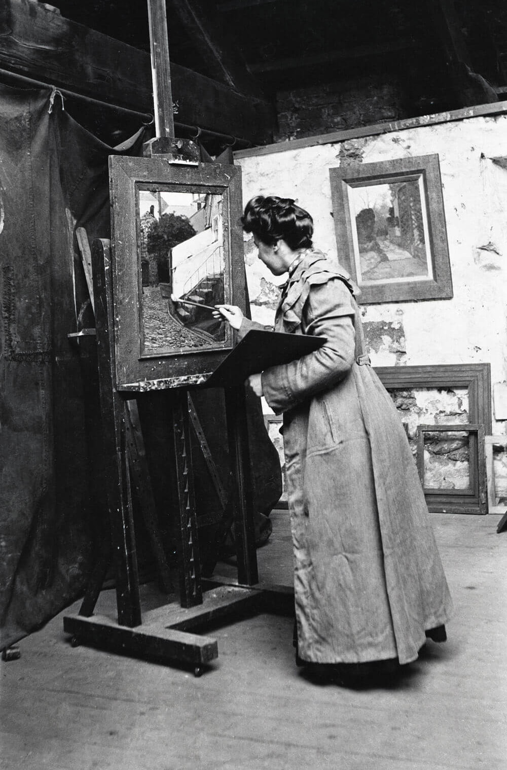
[[[292,198],[255,196],[246,204],[241,221],[245,233],[253,233],[266,246],[274,246],[279,239],[294,251],[312,246],[313,219]]]

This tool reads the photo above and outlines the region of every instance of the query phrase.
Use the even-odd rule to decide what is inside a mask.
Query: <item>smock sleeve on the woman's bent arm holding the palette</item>
[[[355,352],[351,300],[349,290],[338,278],[311,287],[302,328],[305,334],[324,336],[327,342],[309,356],[262,373],[262,390],[275,414],[329,390],[349,373]]]

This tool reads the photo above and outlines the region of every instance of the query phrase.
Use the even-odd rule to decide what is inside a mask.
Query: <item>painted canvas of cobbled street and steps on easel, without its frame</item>
[[[154,203],[152,203],[154,201]],[[225,342],[223,196],[139,189],[144,351],[193,350]]]

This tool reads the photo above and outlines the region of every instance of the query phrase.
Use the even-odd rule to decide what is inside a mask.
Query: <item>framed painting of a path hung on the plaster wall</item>
[[[329,169],[338,259],[359,303],[452,297],[439,156]]]

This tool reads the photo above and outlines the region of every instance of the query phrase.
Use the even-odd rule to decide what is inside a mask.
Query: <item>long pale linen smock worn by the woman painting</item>
[[[283,413],[299,656],[315,663],[415,660],[452,602],[409,442],[369,366],[349,276],[306,250],[275,331],[324,336],[262,373]],[[243,320],[242,337],[255,326]]]

